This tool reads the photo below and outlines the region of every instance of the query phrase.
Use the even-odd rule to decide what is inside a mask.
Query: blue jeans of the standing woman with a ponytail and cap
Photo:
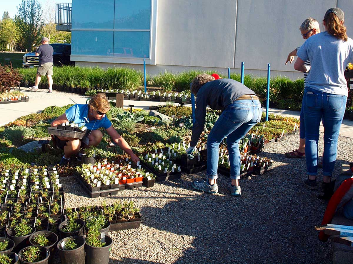
[[[304,89],[305,158],[308,175],[317,175],[317,149],[321,118],[324,126],[323,176],[332,176],[337,155],[337,141],[347,96]]]

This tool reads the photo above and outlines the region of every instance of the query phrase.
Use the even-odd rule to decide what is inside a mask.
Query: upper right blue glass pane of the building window
[[[114,29],[150,29],[151,0],[116,0]]]

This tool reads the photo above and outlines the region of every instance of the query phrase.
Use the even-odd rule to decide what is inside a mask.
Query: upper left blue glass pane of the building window
[[[72,1],[72,29],[113,29],[113,26],[114,0]]]

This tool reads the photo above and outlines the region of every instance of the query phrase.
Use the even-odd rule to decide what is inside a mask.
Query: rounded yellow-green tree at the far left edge
[[[9,44],[10,51],[15,51],[15,45],[18,40],[18,28],[11,18],[5,18],[0,23],[0,42],[3,49]]]

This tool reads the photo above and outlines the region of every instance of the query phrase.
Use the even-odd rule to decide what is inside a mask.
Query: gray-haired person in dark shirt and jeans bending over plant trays
[[[197,75],[192,81],[191,92],[197,96],[195,123],[192,128],[189,158],[199,140],[205,124],[206,107],[222,110],[207,139],[207,178],[192,182],[192,187],[207,193],[217,193],[217,168],[219,145],[227,137],[227,148],[232,180],[228,189],[233,196],[241,195],[239,141],[261,121],[262,108],[257,95],[244,84],[232,79],[218,79],[208,74]]]

